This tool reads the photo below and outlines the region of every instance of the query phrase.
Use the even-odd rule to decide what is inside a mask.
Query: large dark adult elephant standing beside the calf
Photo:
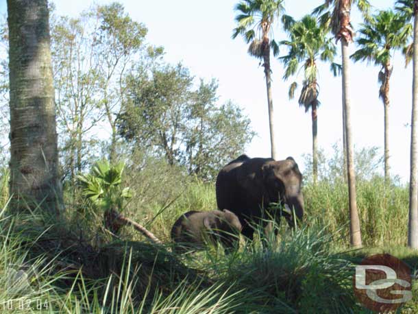
[[[297,219],[302,220],[304,197],[301,184],[302,173],[292,157],[276,161],[241,155],[223,167],[217,176],[217,205],[235,213],[243,226],[242,233],[252,239],[254,229],[249,221],[259,222],[266,217],[263,210],[278,222],[283,215],[291,227],[295,225],[295,219],[289,213],[294,212]],[[272,213],[269,210],[271,203],[291,210]]]

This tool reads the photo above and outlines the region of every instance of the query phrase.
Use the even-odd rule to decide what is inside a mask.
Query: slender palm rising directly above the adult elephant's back
[[[273,99],[271,96],[270,51],[273,50],[273,55],[277,56],[279,49],[275,40],[271,39],[271,27],[284,10],[283,2],[284,0],[241,1],[235,6],[235,10],[238,12],[235,21],[238,26],[232,34],[232,38],[242,35],[249,43],[248,53],[263,62],[269,106],[271,157],[275,160],[278,160],[278,152],[275,143]]]

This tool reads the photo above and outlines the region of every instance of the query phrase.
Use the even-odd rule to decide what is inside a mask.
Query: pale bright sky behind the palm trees
[[[112,1],[95,1],[110,3]],[[221,101],[232,99],[251,118],[252,128],[258,133],[249,145],[249,156],[267,157],[270,154],[269,123],[265,79],[258,60],[247,54],[247,45],[241,38],[232,40],[234,5],[236,0],[121,0],[125,10],[136,21],[149,29],[147,40],[162,45],[168,62],[183,62],[196,77],[219,80]],[[311,12],[323,0],[285,1],[286,14],[296,19]],[[377,9],[393,7],[392,0],[371,0]],[[5,12],[5,0],[0,1]],[[93,4],[89,0],[57,0],[58,14],[76,16]],[[353,10],[354,27],[358,29],[359,14]],[[280,25],[274,29],[277,40],[286,38]],[[354,52],[354,45],[352,51]],[[340,62],[337,56],[336,62]],[[391,80],[390,149],[391,172],[408,180],[412,67],[404,69],[404,60],[395,53]],[[352,64],[352,126],[356,147],[383,147],[383,106],[378,98],[379,69],[365,63]],[[272,60],[273,106],[278,128],[280,158],[293,156],[302,164],[302,154],[312,147],[310,113],[297,105],[297,99],[288,100],[288,86],[284,82],[282,65]],[[319,68],[318,111],[319,146],[333,154],[332,144],[342,137],[341,78],[332,77],[328,65]],[[302,73],[301,73],[302,75]],[[299,81],[302,79],[299,75]],[[381,149],[382,152],[382,149]],[[303,169],[303,165],[302,169]]]

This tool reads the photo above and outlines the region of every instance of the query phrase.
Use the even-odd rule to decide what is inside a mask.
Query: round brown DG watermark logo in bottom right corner
[[[389,254],[362,260],[356,266],[353,281],[356,297],[372,311],[395,311],[413,298],[410,268]]]

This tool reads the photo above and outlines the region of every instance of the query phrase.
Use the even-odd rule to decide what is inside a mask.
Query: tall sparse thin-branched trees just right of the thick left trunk
[[[145,43],[146,35],[147,28],[116,2],[93,5],[76,18],[51,14],[60,154],[64,177],[72,183],[92,160],[116,160],[116,117],[125,104],[127,75],[134,64],[146,67],[163,53]],[[109,128],[108,138],[99,140],[99,125]]]

